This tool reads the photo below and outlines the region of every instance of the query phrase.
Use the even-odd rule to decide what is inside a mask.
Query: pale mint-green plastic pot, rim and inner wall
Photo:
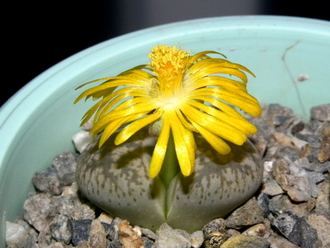
[[[312,106],[330,102],[330,23],[325,21],[207,18],[137,31],[86,49],[36,77],[0,109],[1,247],[6,221],[22,215],[33,190],[33,174],[49,167],[57,154],[74,149],[71,136],[92,104],[73,105],[74,89],[147,63],[154,45],[178,43],[193,52],[221,52],[248,67],[257,76],[250,78],[249,92],[261,103],[280,103],[309,118]]]

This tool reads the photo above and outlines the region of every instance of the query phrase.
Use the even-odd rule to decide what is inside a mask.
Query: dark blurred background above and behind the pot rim
[[[329,20],[329,4],[325,2],[58,0],[2,4],[4,67],[0,106],[44,70],[118,35],[170,22],[228,15],[286,15]]]

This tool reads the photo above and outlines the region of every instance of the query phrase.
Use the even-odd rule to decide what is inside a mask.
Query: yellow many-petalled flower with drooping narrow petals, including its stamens
[[[160,172],[170,133],[181,172],[189,176],[195,163],[193,132],[200,133],[220,154],[230,152],[224,140],[242,145],[246,135],[257,132],[255,126],[227,104],[254,117],[261,114],[258,101],[246,89],[244,71],[253,73],[242,65],[208,56],[222,55],[214,51],[195,55],[189,52],[175,45],[173,48],[157,45],[149,54],[148,65],[89,82],[104,81],[83,92],[75,101],[85,97],[101,98],[82,121],[84,124],[95,114],[91,133],[103,131],[100,146],[124,124],[128,123],[117,135],[116,145],[146,125],[160,122],[161,131],[149,168],[152,178]],[[114,91],[118,86],[125,87]]]

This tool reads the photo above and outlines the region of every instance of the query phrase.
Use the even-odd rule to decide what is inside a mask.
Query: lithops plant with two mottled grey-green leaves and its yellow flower
[[[100,99],[83,117],[94,115],[96,139],[76,174],[97,206],[151,229],[194,231],[258,189],[261,160],[246,136],[257,129],[227,104],[261,114],[246,89],[252,72],[210,54],[223,56],[156,46],[147,65],[92,81],[103,83],[77,98]]]

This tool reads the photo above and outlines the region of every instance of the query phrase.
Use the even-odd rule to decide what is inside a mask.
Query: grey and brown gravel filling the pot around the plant
[[[66,151],[34,175],[24,216],[7,223],[7,247],[330,247],[330,104],[312,108],[309,121],[265,105],[250,121],[263,184],[227,218],[192,234],[167,224],[156,232],[132,227],[80,195],[79,153]]]

